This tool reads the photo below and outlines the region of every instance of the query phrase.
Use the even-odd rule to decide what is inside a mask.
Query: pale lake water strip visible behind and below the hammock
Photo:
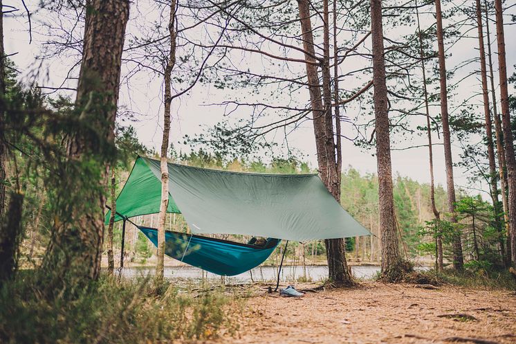
[[[138,276],[154,275],[154,268],[149,267],[125,267],[122,271],[122,276],[125,278],[136,278]],[[376,273],[380,271],[380,266],[351,266],[351,272],[356,278],[368,279],[373,278]],[[206,272],[204,273],[206,278]],[[251,278],[252,275],[252,278]],[[280,275],[282,282],[296,281],[304,277],[303,266],[283,266]],[[306,266],[306,278],[312,281],[324,280],[328,277],[328,266],[311,265]],[[165,278],[181,278],[201,280],[203,278],[203,271],[193,266],[165,266]],[[219,275],[208,273],[208,279],[220,280]],[[226,283],[243,283],[254,280],[268,282],[276,280],[277,269],[275,266],[262,266],[240,275],[226,277]]]

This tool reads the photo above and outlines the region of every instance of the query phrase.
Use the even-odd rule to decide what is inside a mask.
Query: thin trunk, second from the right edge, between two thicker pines
[[[506,266],[510,266],[510,229],[509,229],[509,209],[508,209],[508,199],[507,199],[507,176],[505,173],[505,150],[504,143],[502,142],[502,137],[504,135],[503,129],[501,128],[501,119],[498,114],[497,109],[497,98],[495,92],[495,76],[493,75],[492,68],[492,53],[491,53],[491,36],[489,30],[489,11],[488,11],[488,3],[484,1],[485,6],[485,14],[486,14],[486,30],[487,30],[487,38],[488,38],[488,62],[489,62],[489,79],[491,84],[491,98],[492,98],[492,114],[495,119],[495,137],[496,137],[496,145],[497,145],[497,158],[498,158],[498,173],[500,179],[500,194],[501,194],[501,204],[504,209],[504,224],[506,228]]]

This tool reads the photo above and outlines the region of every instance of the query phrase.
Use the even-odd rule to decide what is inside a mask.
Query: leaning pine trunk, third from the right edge
[[[495,161],[495,147],[492,141],[492,121],[489,107],[489,93],[488,93],[488,75],[486,71],[486,53],[483,46],[483,29],[482,29],[482,12],[480,0],[476,0],[477,6],[477,29],[479,33],[479,53],[480,53],[480,73],[482,79],[482,98],[483,98],[483,114],[486,119],[486,138],[487,138],[487,150],[489,159],[489,184],[490,184],[490,196],[492,200],[492,206],[495,210],[495,226],[498,230],[499,235],[499,250],[501,255],[501,261],[504,262],[504,237],[502,235],[502,224],[499,214],[499,200],[498,200],[498,183],[497,183],[497,170]]]

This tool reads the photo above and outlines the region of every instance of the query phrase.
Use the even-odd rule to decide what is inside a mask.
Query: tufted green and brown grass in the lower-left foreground
[[[29,274],[0,287],[0,343],[170,343],[237,330],[241,300],[192,296],[148,278],[103,277],[72,297],[39,293]],[[236,307],[235,307],[236,306]]]

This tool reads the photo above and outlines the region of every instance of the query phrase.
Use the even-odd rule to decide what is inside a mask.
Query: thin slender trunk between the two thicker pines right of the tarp
[[[427,136],[428,136],[428,161],[430,168],[430,204],[432,206],[432,212],[436,220],[440,219],[439,210],[437,210],[435,204],[435,182],[434,182],[434,150],[432,147],[432,126],[430,123],[430,107],[428,105],[428,90],[427,90],[427,78],[425,68],[425,53],[423,51],[423,33],[421,33],[421,27],[419,24],[419,11],[416,3],[416,14],[418,22],[418,38],[419,38],[419,57],[421,58],[421,71],[423,73],[423,97],[425,98],[425,115],[427,123]],[[436,224],[437,225],[437,224]],[[443,271],[443,238],[440,233],[435,233],[436,243],[436,270]]]

